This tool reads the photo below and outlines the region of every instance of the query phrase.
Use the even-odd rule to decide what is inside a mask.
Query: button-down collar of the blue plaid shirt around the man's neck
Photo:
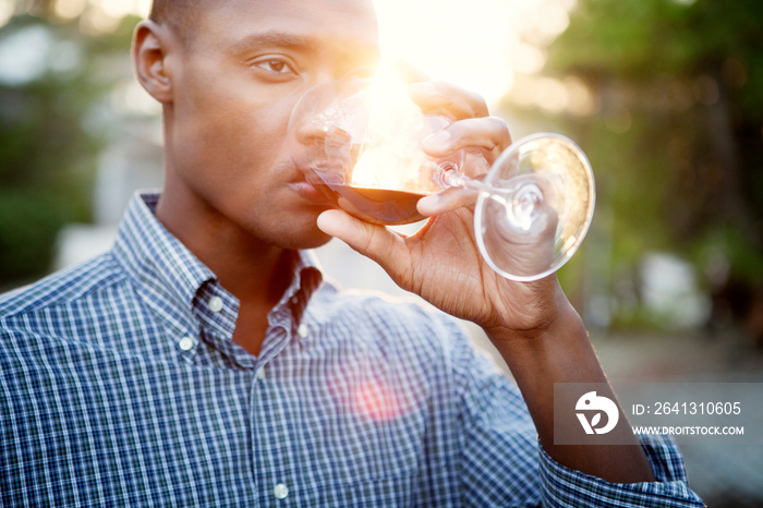
[[[136,282],[143,300],[178,334],[196,335],[208,327],[230,338],[239,301],[226,291],[215,274],[157,220],[158,193],[135,194],[117,233],[116,259]],[[292,280],[268,316],[271,325],[294,328],[307,302],[323,285],[323,275],[311,251],[298,251]],[[213,303],[213,299],[219,301]],[[215,312],[215,307],[222,309]],[[299,337],[298,334],[292,334]]]

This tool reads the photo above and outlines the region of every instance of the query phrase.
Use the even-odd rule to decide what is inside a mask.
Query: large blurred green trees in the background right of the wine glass
[[[692,262],[708,293],[762,294],[760,1],[578,0],[544,72],[581,80],[596,105],[555,119],[596,172],[592,237],[609,261],[590,274],[606,270],[617,298],[643,254],[664,251]]]

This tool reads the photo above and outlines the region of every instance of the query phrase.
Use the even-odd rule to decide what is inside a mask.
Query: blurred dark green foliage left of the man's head
[[[11,19],[0,48],[31,33],[45,35],[31,40],[48,41],[39,48],[44,68],[23,78],[0,73],[0,287],[47,273],[60,228],[90,220],[97,157],[109,133],[107,94],[119,77],[104,64],[124,57],[131,24],[87,36],[38,10]]]

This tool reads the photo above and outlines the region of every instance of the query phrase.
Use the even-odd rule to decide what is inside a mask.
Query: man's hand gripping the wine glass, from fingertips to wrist
[[[464,172],[470,177],[484,173],[511,143],[506,123],[489,117],[479,96],[452,85],[426,82],[412,85],[411,97],[425,112],[456,119],[426,140],[424,149],[434,157],[465,150]],[[492,336],[505,338],[506,330],[526,336],[548,328],[569,305],[556,278],[523,283],[496,274],[482,258],[474,239],[475,197],[473,191],[450,189],[421,199],[419,211],[432,218],[411,237],[362,222],[340,210],[322,214],[318,227],[377,262],[403,289],[481,325],[488,334],[501,330]]]

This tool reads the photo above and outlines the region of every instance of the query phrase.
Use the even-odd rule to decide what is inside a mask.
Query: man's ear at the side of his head
[[[169,66],[171,34],[150,20],[135,27],[133,35],[133,65],[143,87],[161,104],[172,102],[172,73]]]

